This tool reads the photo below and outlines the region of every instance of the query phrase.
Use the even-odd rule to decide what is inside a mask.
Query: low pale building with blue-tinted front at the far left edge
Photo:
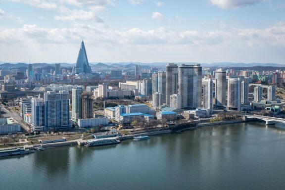
[[[0,134],[21,132],[21,126],[11,117],[0,118]]]

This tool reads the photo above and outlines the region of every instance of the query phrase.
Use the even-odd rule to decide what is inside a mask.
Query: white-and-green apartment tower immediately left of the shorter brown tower
[[[76,87],[72,91],[72,115],[71,120],[77,121],[82,118],[82,88]]]

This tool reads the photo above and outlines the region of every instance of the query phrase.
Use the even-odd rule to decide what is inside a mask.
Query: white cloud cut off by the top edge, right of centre
[[[210,0],[213,5],[216,5],[220,8],[240,8],[247,7],[249,5],[262,2],[264,0]]]

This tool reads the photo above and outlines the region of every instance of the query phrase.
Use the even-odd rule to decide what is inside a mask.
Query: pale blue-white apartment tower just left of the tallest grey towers
[[[165,103],[166,73],[157,72],[152,74],[152,94],[161,93],[162,102]]]

